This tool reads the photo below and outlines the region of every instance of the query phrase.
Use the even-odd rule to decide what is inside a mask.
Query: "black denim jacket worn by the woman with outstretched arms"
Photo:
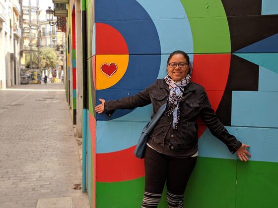
[[[158,79],[151,86],[138,94],[115,101],[106,101],[104,104],[105,113],[109,116],[116,109],[133,109],[152,104],[153,115],[160,106],[167,102],[169,97],[169,86],[164,79]],[[202,120],[209,127],[210,132],[221,140],[234,154],[242,145],[233,135],[230,135],[224,125],[219,121],[214,110],[209,104],[205,89],[196,83],[190,83],[184,90],[184,101],[180,103],[180,121],[177,130],[171,130],[170,147],[172,150],[183,150],[188,153],[195,153],[198,150],[198,125],[197,119]],[[150,135],[150,142],[161,147],[165,145],[165,137],[172,125],[172,118],[166,113],[161,116],[157,125]]]

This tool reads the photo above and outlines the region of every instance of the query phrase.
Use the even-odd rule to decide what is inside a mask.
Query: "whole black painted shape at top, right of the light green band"
[[[232,52],[278,33],[278,15],[261,15],[262,0],[222,0],[222,4],[228,19]]]

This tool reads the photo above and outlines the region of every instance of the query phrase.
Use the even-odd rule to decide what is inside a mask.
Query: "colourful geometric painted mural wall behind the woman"
[[[278,1],[87,0],[87,189],[91,207],[139,208],[143,160],[133,155],[152,106],[95,114],[98,99],[135,95],[188,52],[229,132],[251,146],[248,163],[199,123],[187,208],[278,204]],[[72,48],[73,50],[73,48]],[[165,195],[159,208],[166,208]]]

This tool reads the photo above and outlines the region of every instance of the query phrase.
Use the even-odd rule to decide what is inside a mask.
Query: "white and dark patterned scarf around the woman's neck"
[[[174,81],[172,78],[167,74],[164,78],[166,83],[169,85],[170,88],[170,96],[168,99],[168,108],[167,108],[167,115],[171,117],[173,115],[173,129],[178,128],[178,123],[180,121],[180,105],[179,103],[183,101],[183,91],[184,87],[190,83],[191,76],[188,74],[185,78],[181,81]]]

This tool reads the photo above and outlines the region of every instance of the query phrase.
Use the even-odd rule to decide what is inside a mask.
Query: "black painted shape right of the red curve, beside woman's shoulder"
[[[259,66],[231,55],[231,65],[226,88],[216,114],[225,126],[231,125],[232,91],[258,91]]]

